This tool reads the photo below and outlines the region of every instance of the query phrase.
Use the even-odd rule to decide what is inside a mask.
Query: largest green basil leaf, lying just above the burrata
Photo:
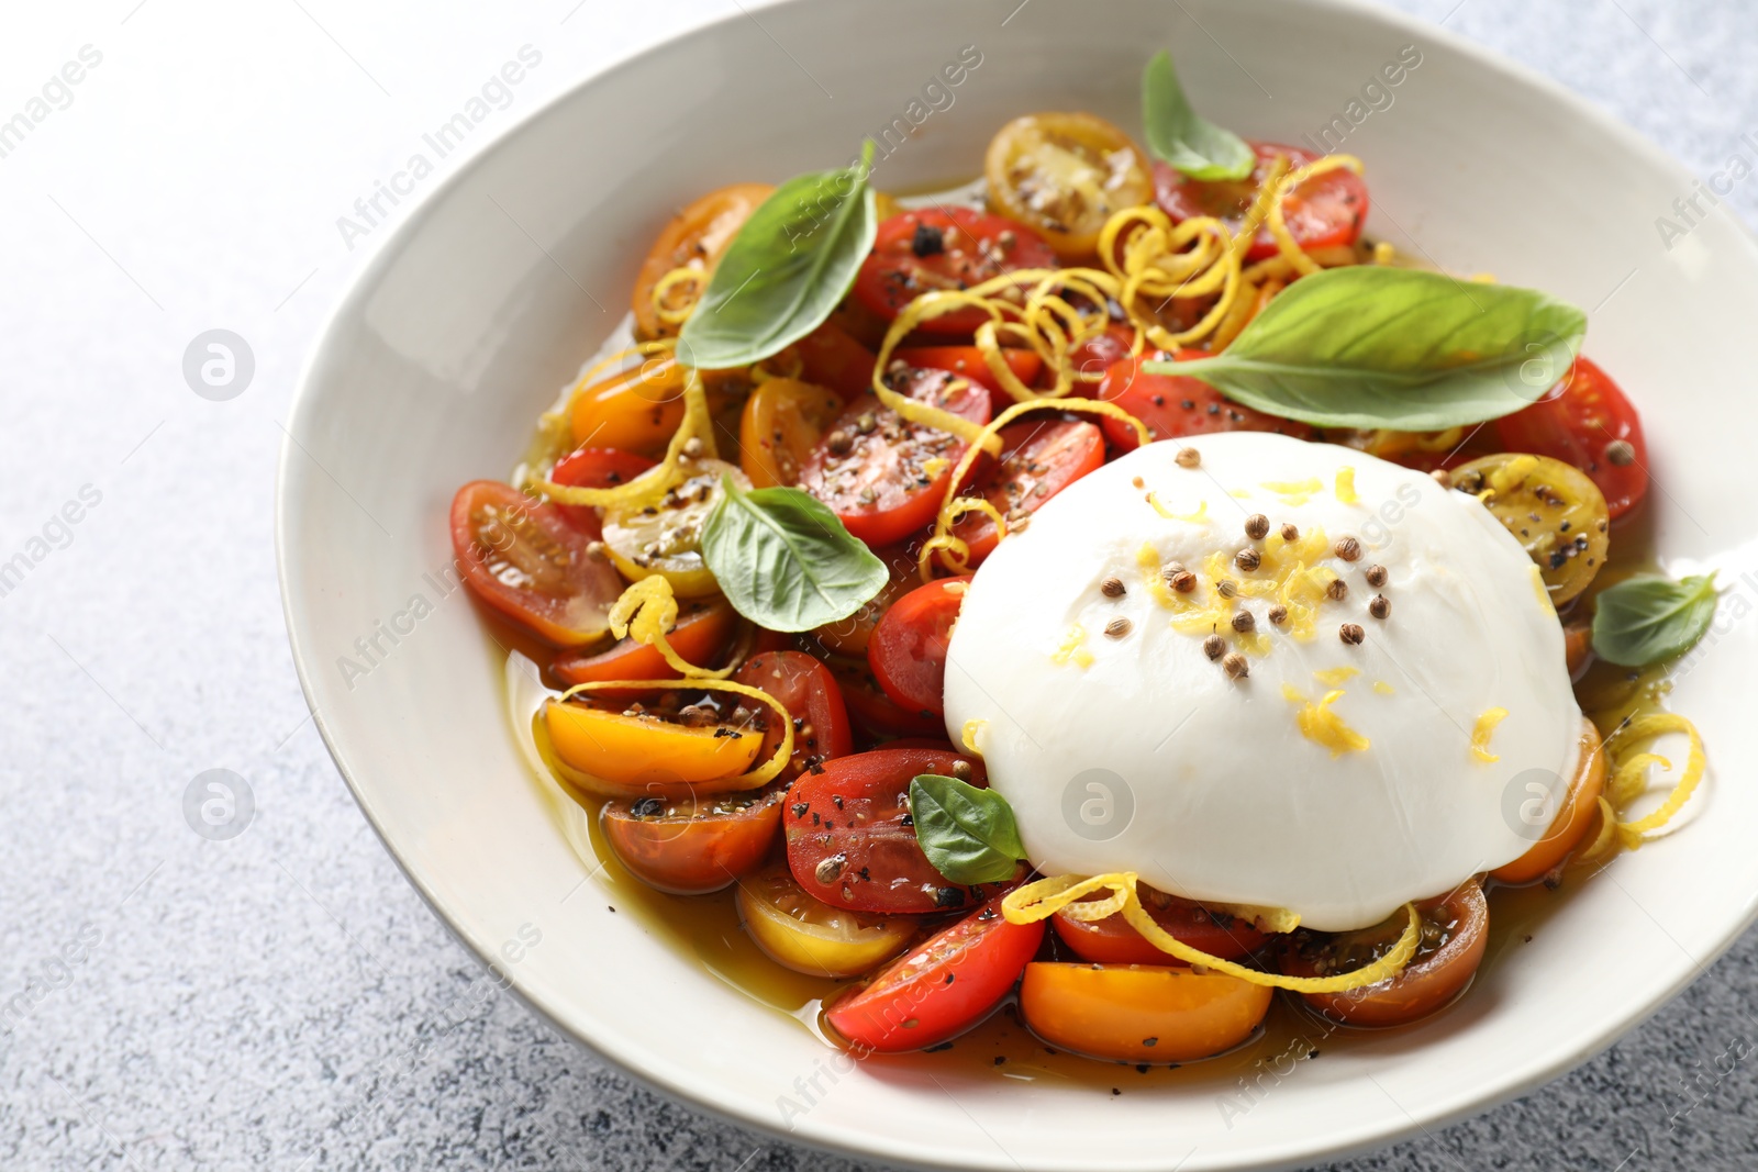
[[[1443,430],[1536,402],[1586,332],[1536,290],[1350,265],[1289,285],[1222,353],[1144,369],[1317,427]]]

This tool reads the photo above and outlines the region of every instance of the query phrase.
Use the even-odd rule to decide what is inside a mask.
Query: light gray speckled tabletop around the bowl
[[[1401,7],[1700,174],[1758,134],[1742,0]],[[468,149],[737,4],[11,9],[0,121],[30,130],[0,135],[0,562],[26,571],[0,585],[0,1167],[851,1167],[659,1100],[489,986],[332,768],[274,583],[280,422],[383,234],[338,216],[520,46],[541,63]],[[1730,202],[1758,218],[1758,186]],[[211,329],[255,355],[225,402],[183,376]],[[232,840],[185,815],[214,768],[255,801]],[[1575,1074],[1341,1167],[1758,1167],[1754,984],[1747,937]]]

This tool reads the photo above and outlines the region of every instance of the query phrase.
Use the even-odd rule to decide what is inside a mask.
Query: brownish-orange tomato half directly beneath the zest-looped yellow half
[[[779,785],[712,798],[607,801],[598,824],[617,859],[649,887],[707,894],[756,870],[781,835]]]

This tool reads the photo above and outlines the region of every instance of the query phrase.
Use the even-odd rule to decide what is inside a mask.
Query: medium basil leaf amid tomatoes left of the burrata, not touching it
[[[740,615],[770,631],[810,631],[847,619],[890,575],[837,515],[800,488],[723,497],[701,527],[701,559]]]

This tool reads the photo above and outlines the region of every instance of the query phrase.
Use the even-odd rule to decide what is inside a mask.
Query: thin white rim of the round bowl
[[[366,297],[376,288],[385,272],[397,262],[403,250],[410,241],[427,225],[434,211],[445,204],[478,169],[485,167],[496,153],[506,149],[506,146],[526,132],[526,128],[566,102],[573,102],[578,91],[589,84],[601,79],[612,77],[615,74],[626,72],[638,67],[649,58],[661,56],[668,53],[677,42],[712,35],[716,28],[731,26],[744,19],[754,19],[752,12],[770,12],[781,9],[803,9],[825,4],[826,0],[744,0],[738,4],[735,0],[733,12],[721,16],[707,16],[686,21],[682,26],[672,30],[657,40],[650,40],[629,49],[624,49],[614,56],[605,65],[584,72],[571,81],[564,83],[561,90],[552,93],[548,98],[531,105],[517,118],[505,123],[490,139],[487,139],[478,151],[462,160],[455,170],[443,176],[431,188],[422,192],[415,200],[410,202],[401,221],[387,232],[383,237],[374,241],[362,258],[357,271],[348,278],[346,288],[341,297],[336,299],[331,311],[323,316],[322,327],[316,332],[306,357],[301,364],[299,378],[294,387],[288,422],[283,429],[283,438],[280,443],[280,452],[276,457],[274,469],[274,555],[276,555],[276,583],[281,594],[281,615],[287,624],[288,647],[292,650],[294,671],[299,676],[299,687],[304,694],[306,706],[311,713],[313,724],[318,734],[323,738],[323,747],[327,749],[331,759],[336,764],[336,771],[343,777],[348,785],[348,792],[353,796],[355,805],[366,815],[371,824],[373,833],[378,836],[380,843],[385,847],[387,854],[396,863],[397,870],[408,880],[408,884],[417,891],[422,901],[429,907],[434,917],[445,926],[447,933],[462,944],[466,951],[482,965],[487,972],[494,973],[501,988],[512,995],[519,1003],[522,1003],[536,1017],[550,1024],[557,1033],[570,1038],[573,1044],[582,1045],[592,1056],[612,1065],[635,1082],[649,1088],[656,1093],[672,1098],[673,1102],[684,1103],[693,1111],[700,1111],[724,1123],[735,1126],[751,1128],[763,1135],[781,1139],[788,1144],[816,1149],[821,1153],[832,1153],[837,1156],[856,1158],[856,1160],[881,1160],[895,1167],[909,1168],[963,1168],[963,1167],[1018,1167],[1011,1160],[995,1158],[972,1158],[960,1156],[956,1153],[932,1153],[926,1149],[914,1149],[911,1153],[904,1151],[877,1151],[875,1147],[847,1142],[830,1133],[828,1130],[812,1125],[810,1119],[800,1121],[796,1130],[786,1130],[779,1126],[772,1118],[763,1112],[740,1109],[731,1100],[717,1098],[710,1088],[703,1086],[686,1086],[680,1081],[668,1079],[665,1075],[649,1072],[640,1065],[638,1053],[619,1053],[601,1045],[598,1040],[584,1035],[568,1021],[563,1021],[556,1012],[547,1009],[536,995],[524,988],[515,970],[503,968],[494,961],[496,947],[489,940],[478,940],[447,914],[445,907],[440,903],[434,891],[417,875],[410,863],[397,850],[392,842],[390,828],[374,810],[369,798],[364,794],[362,785],[353,777],[352,768],[345,761],[339,749],[339,731],[329,727],[329,720],[316,703],[318,692],[318,669],[316,654],[306,648],[301,641],[301,622],[294,610],[292,596],[292,578],[294,564],[299,557],[292,545],[292,510],[294,497],[290,496],[290,478],[292,466],[302,448],[295,436],[301,434],[301,423],[306,420],[308,413],[313,409],[315,383],[320,371],[329,362],[329,351],[336,341],[336,336],[343,323],[350,318],[357,318]],[[1628,155],[1638,156],[1645,165],[1654,167],[1672,174],[1681,183],[1681,190],[1689,188],[1693,183],[1693,172],[1684,167],[1679,160],[1661,149],[1658,144],[1649,141],[1633,127],[1621,121],[1616,114],[1602,109],[1586,97],[1566,88],[1563,83],[1538,72],[1536,69],[1524,65],[1501,51],[1484,46],[1466,35],[1447,28],[1438,21],[1427,21],[1391,7],[1375,4],[1373,0],[1262,0],[1264,7],[1287,7],[1287,9],[1315,9],[1318,12],[1340,12],[1348,14],[1357,19],[1377,21],[1378,25],[1410,35],[1420,35],[1429,42],[1445,46],[1449,51],[1459,54],[1466,65],[1473,70],[1487,72],[1501,81],[1524,86],[1529,91],[1536,91],[1544,98],[1559,104],[1575,119],[1584,119],[1595,130],[1609,135],[1619,149]],[[1023,5],[1021,5],[1023,7]],[[1450,14],[1449,14],[1450,16]],[[1443,18],[1445,19],[1445,18]],[[1740,235],[1747,244],[1758,244],[1758,230],[1753,228],[1739,214],[1730,214]],[[1707,954],[1691,959],[1695,968],[1684,972],[1677,980],[1668,984],[1660,993],[1630,1005],[1614,1021],[1593,1035],[1582,1035],[1579,1044],[1552,1051],[1551,1054],[1538,1058],[1526,1067],[1519,1068],[1510,1077],[1493,1084],[1484,1089],[1482,1086],[1459,1091],[1449,1096],[1438,1096],[1429,1100],[1429,1103],[1420,1105],[1415,1112],[1403,1111],[1403,1119],[1392,1118],[1369,1121],[1355,1125],[1341,1132],[1327,1132],[1322,1135],[1303,1135],[1296,1142],[1285,1142],[1278,1149],[1268,1154],[1268,1161],[1259,1161],[1250,1167],[1253,1168],[1294,1168],[1303,1167],[1311,1161],[1322,1160],[1340,1160],[1354,1154],[1375,1151],[1394,1142],[1405,1140],[1413,1135],[1427,1135],[1435,1128],[1450,1126],[1461,1119],[1482,1114],[1498,1107],[1512,1098],[1517,1098],[1528,1091],[1533,1091],[1556,1077],[1561,1077],[1568,1070],[1573,1070],[1580,1063],[1591,1060],[1602,1051],[1609,1049],[1623,1037],[1626,1037],[1638,1024],[1644,1024],[1653,1017],[1661,1007],[1677,998],[1686,988],[1689,988],[1698,977],[1702,977],[1711,965],[1714,965],[1732,945],[1744,935],[1753,922],[1758,922],[1758,893],[1754,893],[1746,908],[1740,912],[1737,922],[1730,921],[1728,930],[1723,938]],[[907,1142],[902,1137],[893,1137],[893,1142],[900,1147]],[[1125,1165],[1118,1165],[1125,1167]],[[1164,1167],[1164,1160],[1151,1161],[1141,1160],[1129,1167]],[[1246,1165],[1229,1165],[1229,1167],[1246,1167]]]

